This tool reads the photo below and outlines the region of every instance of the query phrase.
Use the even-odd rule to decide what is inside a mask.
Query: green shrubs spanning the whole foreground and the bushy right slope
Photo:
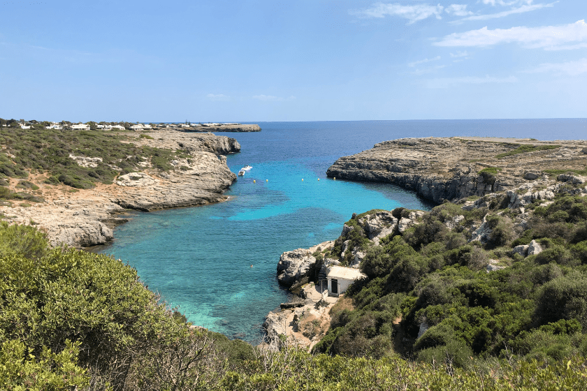
[[[1,223],[0,389],[584,389],[587,209],[573,197],[538,208],[529,233],[513,236],[542,237],[544,255],[509,258],[512,267],[491,274],[484,256],[509,251],[443,229],[461,212],[453,204],[433,209],[425,229],[369,249],[369,278],[337,307],[317,348],[328,354],[254,348],[190,327],[122,261],[50,249],[34,227]],[[413,340],[423,316],[421,339],[397,344]]]

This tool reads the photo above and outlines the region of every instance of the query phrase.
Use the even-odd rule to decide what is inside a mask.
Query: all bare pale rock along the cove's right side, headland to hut
[[[512,154],[520,145],[547,146],[547,149]],[[328,168],[327,175],[396,184],[437,204],[450,200],[463,211],[502,208],[509,211],[512,224],[523,230],[531,216],[526,209],[532,203],[549,205],[559,193],[587,195],[584,185],[587,177],[577,174],[586,169],[586,146],[583,140],[407,138],[382,142],[368,151],[341,157]],[[329,323],[339,300],[327,296],[309,299],[309,292],[321,293],[320,280],[324,280],[325,267],[341,264],[359,267],[365,258],[364,239],[369,240],[370,246],[379,246],[384,237],[404,235],[428,214],[404,208],[353,214],[335,241],[282,253],[277,263],[277,279],[299,298],[282,304],[281,311],[268,314],[263,327],[270,344],[277,346],[280,338],[285,338],[301,346],[314,346],[328,330],[329,325],[324,324]],[[447,230],[466,233],[468,242],[487,242],[493,229],[485,218],[465,221],[465,216],[460,214],[442,217],[442,224]],[[528,245],[514,247],[512,254],[526,257],[541,251],[539,244],[532,240]],[[497,259],[488,259],[479,266],[487,272],[507,267]],[[322,298],[329,301],[321,301]],[[345,306],[352,307],[352,303],[347,299]],[[310,331],[305,320],[308,318],[314,321]],[[425,323],[421,324],[420,335],[426,327]]]

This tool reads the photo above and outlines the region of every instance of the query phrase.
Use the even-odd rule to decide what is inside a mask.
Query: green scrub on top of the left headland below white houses
[[[46,184],[61,182],[77,189],[89,189],[97,182],[110,184],[119,174],[142,170],[140,164],[145,162],[166,171],[173,169],[171,160],[187,157],[181,151],[138,147],[127,140],[129,136],[124,132],[0,127],[0,179],[24,179],[29,172],[48,172]],[[92,162],[94,167],[83,167],[70,155],[99,159]]]

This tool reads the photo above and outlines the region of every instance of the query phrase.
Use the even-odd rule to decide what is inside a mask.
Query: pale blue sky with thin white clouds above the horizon
[[[0,0],[0,117],[587,117],[585,0]]]

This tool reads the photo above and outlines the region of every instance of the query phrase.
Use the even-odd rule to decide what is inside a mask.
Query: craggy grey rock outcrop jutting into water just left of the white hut
[[[277,263],[277,280],[285,286],[292,286],[308,275],[310,268],[316,264],[312,253],[326,249],[334,244],[333,241],[317,244],[310,249],[296,249],[285,251]]]

